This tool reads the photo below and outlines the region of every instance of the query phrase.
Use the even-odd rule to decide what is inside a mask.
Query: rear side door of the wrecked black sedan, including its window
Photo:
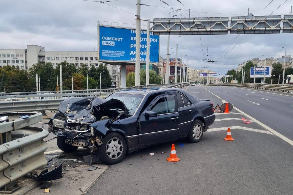
[[[176,95],[178,100],[179,113],[179,137],[186,137],[190,129],[190,125],[193,123],[193,116],[196,111],[196,107],[193,102],[183,94],[177,92]]]

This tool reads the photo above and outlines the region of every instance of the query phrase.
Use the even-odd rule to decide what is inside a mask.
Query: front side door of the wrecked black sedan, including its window
[[[147,117],[145,111],[154,111],[156,117]],[[154,98],[139,117],[139,146],[158,144],[178,139],[178,107],[173,94],[163,94]]]

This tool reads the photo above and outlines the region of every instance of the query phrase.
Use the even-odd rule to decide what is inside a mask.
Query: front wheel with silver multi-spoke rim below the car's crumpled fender
[[[98,147],[98,157],[102,163],[120,163],[126,155],[127,144],[125,138],[117,132],[106,134],[103,144]]]

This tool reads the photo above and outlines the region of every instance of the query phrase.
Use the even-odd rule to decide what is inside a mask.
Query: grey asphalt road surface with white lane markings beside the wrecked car
[[[192,86],[187,91],[211,99],[214,106],[224,99],[240,111],[218,113],[199,143],[181,139],[126,155],[86,194],[292,194],[293,146],[284,139],[293,136],[293,97],[221,86]],[[257,121],[244,124],[243,112]],[[223,140],[228,127],[234,141]],[[176,163],[166,161],[172,143],[180,158]]]

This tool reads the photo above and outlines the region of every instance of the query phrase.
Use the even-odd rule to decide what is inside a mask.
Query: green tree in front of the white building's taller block
[[[56,77],[52,63],[36,63],[28,69],[29,84],[31,90],[35,91],[36,74],[40,77],[41,91],[51,91],[55,89]]]

